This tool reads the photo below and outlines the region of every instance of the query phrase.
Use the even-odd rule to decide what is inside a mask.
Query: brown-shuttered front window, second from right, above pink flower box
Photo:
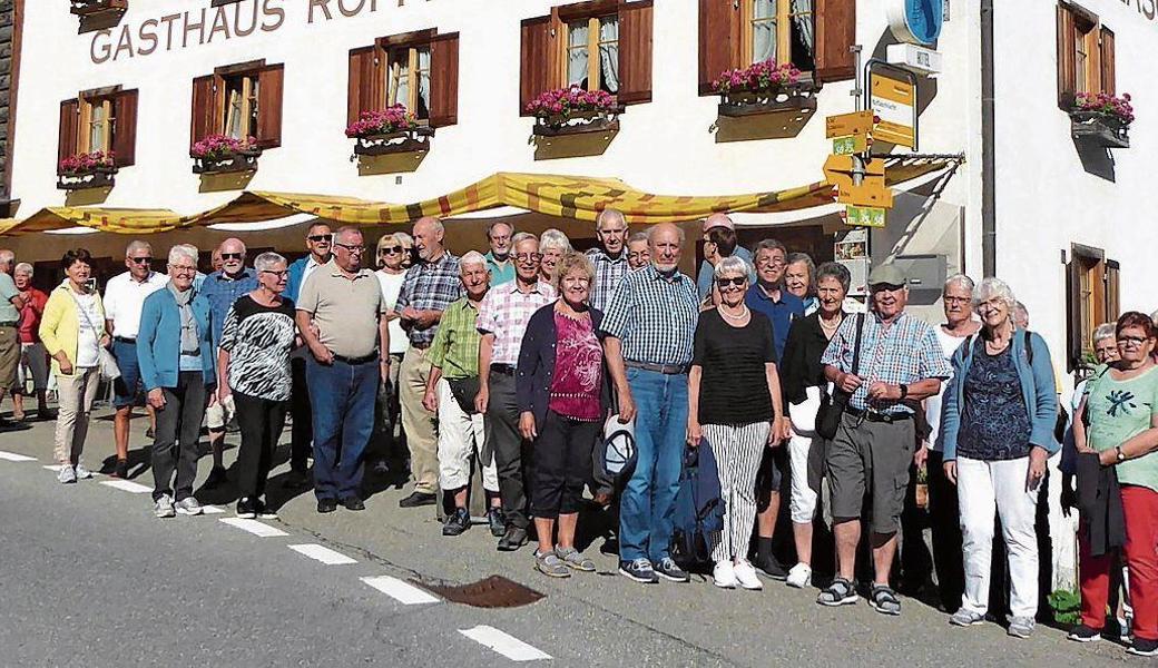
[[[522,21],[519,112],[547,90],[579,86],[651,102],[652,0],[562,5]]]

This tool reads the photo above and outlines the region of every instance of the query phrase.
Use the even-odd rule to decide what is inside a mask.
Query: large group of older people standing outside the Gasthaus
[[[999,528],[1009,633],[1024,638],[1039,612],[1039,560],[1050,559],[1039,553],[1034,524],[1040,490],[1048,458],[1065,442],[1067,490],[1078,482],[1065,498],[1080,499],[1082,515],[1083,622],[1070,637],[1101,633],[1120,556],[1134,611],[1130,651],[1158,652],[1158,331],[1150,316],[1130,311],[1098,330],[1102,366],[1079,387],[1067,424],[1050,351],[999,279],[951,277],[936,326],[907,311],[908,279],[896,265],[873,269],[860,307],[849,299],[844,266],[815,266],[774,238],[749,251],[725,214],[703,223],[696,279],[679,270],[680,227],[629,235],[611,208],[595,227],[598,245],[578,252],[558,230],[535,236],[493,222],[486,254],[456,257],[441,221],[423,218],[412,236],[381,237],[369,260],[361,230],[316,221],[306,257],[290,264],[264,252],[247,267],[244,244],[230,238],[218,249],[222,266],[200,280],[196,248],[170,249],[161,274],[148,243],[134,241],[127,271],[109,281],[103,301],[88,252],[69,251],[67,278],[36,328],[59,388],[60,480],[90,475],[85,431],[111,359],[119,366],[115,472],[126,475],[140,387],[156,414],[157,516],[200,512],[198,432],[206,421],[211,478],[223,478],[221,436],[234,417],[237,515],[272,514],[264,491],[292,412],[287,484],[308,484],[312,456],[320,513],[365,508],[367,463],[408,469],[413,489],[400,506],[441,501],[442,533],[456,536],[471,527],[478,470],[497,548],[520,549],[533,529],[535,568],[559,578],[595,570],[576,543],[588,489],[595,506],[617,515],[622,575],[687,582],[688,564],[673,553],[676,496],[686,450],[710,448],[724,507],[723,527],[708,536],[717,586],[760,589],[757,573],[811,585],[814,526],[827,505],[835,572],[818,579],[818,603],[857,602],[857,574],[867,572],[871,605],[899,615],[897,551],[924,549],[919,533],[911,545],[899,534],[916,477],[928,471],[951,623],[984,622]],[[10,263],[0,252],[0,267]],[[36,303],[5,278],[0,309],[15,315],[0,313],[0,370],[12,354],[5,337],[16,336],[8,323],[23,322]],[[604,424],[631,425],[626,474],[604,467]],[[791,567],[774,553],[784,496]],[[862,555],[870,559],[858,570]]]

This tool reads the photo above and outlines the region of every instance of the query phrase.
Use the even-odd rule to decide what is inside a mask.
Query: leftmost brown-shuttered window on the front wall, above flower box
[[[60,103],[58,162],[79,153],[111,151],[117,167],[129,167],[135,162],[135,89],[96,88]]]

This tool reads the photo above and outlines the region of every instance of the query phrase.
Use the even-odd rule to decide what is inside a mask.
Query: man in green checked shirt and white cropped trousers
[[[501,536],[505,531],[503,512],[499,506],[498,474],[493,458],[483,463],[484,455],[483,413],[475,408],[478,396],[478,307],[486,295],[490,276],[486,258],[478,251],[470,251],[459,260],[462,287],[467,295],[446,307],[434,343],[427,357],[431,375],[426,381],[423,405],[438,413],[438,467],[439,486],[454,499],[454,513],[442,526],[444,536],[457,536],[470,528],[470,512],[467,509],[470,490],[470,461],[476,460],[483,469],[483,489],[490,499],[486,513],[491,533]]]

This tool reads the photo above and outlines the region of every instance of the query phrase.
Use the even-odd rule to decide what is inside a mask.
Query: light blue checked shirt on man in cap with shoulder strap
[[[860,376],[864,382],[852,392],[849,405],[858,411],[867,410],[868,386],[880,381],[888,384],[911,384],[925,379],[945,380],[953,375],[953,368],[945,360],[940,342],[932,325],[902,313],[886,325],[875,311],[864,318],[860,338],[860,366],[852,369],[852,348],[857,340],[857,318],[846,317],[833,335],[820,364]],[[872,402],[873,410],[882,413],[911,413],[913,409],[893,401]]]

